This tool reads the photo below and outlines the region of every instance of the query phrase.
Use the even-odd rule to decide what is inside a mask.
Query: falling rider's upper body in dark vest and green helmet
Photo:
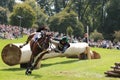
[[[55,52],[64,53],[68,47],[70,47],[70,44],[68,42],[68,38],[66,36],[64,36],[59,41],[57,48],[55,49]]]

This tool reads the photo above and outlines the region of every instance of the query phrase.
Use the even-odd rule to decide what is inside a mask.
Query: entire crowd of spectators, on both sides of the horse
[[[22,37],[23,34],[31,34],[35,32],[33,28],[22,28],[19,26],[11,26],[11,25],[0,25],[0,38],[2,39],[15,39]],[[60,34],[59,32],[54,32],[54,37],[62,38],[65,34]],[[75,37],[69,37],[70,42],[87,42],[86,39],[87,35],[84,35],[83,38],[77,39]],[[89,45],[91,47],[100,47],[100,48],[107,48],[107,49],[119,49],[120,50],[120,42],[112,42],[110,40],[89,40]]]

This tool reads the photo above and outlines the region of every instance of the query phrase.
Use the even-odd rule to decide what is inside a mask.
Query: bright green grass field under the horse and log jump
[[[8,43],[22,43],[27,36],[15,40],[0,39],[0,53]],[[0,80],[120,80],[105,77],[104,72],[110,70],[115,62],[120,62],[120,50],[92,48],[100,53],[101,59],[78,60],[68,58],[52,58],[41,61],[41,68],[25,75],[25,69],[8,66],[0,57]]]

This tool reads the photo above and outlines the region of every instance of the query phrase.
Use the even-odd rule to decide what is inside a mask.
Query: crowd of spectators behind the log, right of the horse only
[[[62,38],[65,34],[60,34],[59,32],[54,33],[54,37]],[[93,39],[87,39],[87,34],[84,34],[83,38],[76,38],[74,36],[69,37],[70,43],[77,43],[77,42],[87,42],[91,47],[99,47],[99,48],[106,48],[106,49],[119,49],[120,50],[120,42],[112,42],[111,40],[98,40],[94,41]]]

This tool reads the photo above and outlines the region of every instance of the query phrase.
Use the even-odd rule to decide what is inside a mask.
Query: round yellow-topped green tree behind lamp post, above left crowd
[[[11,13],[10,23],[11,25],[21,25],[21,27],[31,27],[35,22],[35,15],[35,12],[28,4],[17,4]],[[19,16],[21,16],[21,24]]]

